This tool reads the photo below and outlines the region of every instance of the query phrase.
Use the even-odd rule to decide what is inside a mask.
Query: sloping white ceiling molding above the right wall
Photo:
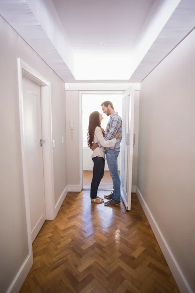
[[[140,83],[192,29],[195,28],[195,0],[181,0],[176,10],[130,78]]]

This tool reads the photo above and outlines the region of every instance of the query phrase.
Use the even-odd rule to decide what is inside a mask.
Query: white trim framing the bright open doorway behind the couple
[[[83,158],[82,158],[82,95],[83,94],[104,94],[104,95],[116,95],[116,94],[122,94],[123,90],[107,90],[107,91],[102,91],[102,90],[87,90],[87,91],[79,91],[79,187],[80,190],[83,188]],[[103,101],[103,99],[102,99]]]

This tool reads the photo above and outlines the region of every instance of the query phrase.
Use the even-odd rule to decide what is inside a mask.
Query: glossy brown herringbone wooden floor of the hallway
[[[21,293],[179,292],[136,194],[126,211],[91,204],[90,191],[69,192],[33,255]]]

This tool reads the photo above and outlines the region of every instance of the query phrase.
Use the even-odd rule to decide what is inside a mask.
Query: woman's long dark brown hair
[[[103,136],[105,137],[105,131],[101,127],[99,122],[99,112],[94,111],[89,116],[89,127],[88,127],[88,133],[87,133],[87,145],[88,147],[91,147],[94,143],[94,132],[96,127],[100,127],[103,133]]]

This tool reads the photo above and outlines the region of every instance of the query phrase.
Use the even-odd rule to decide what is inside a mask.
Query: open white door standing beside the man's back
[[[133,144],[134,144],[134,91],[129,87],[123,93],[121,142],[121,197],[126,209],[131,209]]]

